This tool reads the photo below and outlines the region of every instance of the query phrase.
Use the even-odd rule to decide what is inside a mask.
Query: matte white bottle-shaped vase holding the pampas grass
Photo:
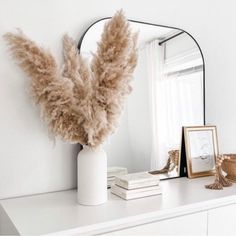
[[[107,155],[102,147],[83,146],[77,158],[77,199],[81,205],[107,201]]]

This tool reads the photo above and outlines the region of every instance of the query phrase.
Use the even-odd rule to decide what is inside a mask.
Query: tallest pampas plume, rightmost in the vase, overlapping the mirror
[[[122,11],[105,25],[91,62],[95,91],[92,105],[96,111],[95,122],[89,124],[92,145],[103,141],[117,126],[124,99],[131,92],[129,82],[137,63],[136,41],[137,35],[131,33]]]

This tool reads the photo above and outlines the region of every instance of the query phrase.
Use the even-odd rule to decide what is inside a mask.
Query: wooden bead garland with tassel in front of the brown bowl
[[[229,155],[218,155],[217,161],[216,161],[215,181],[213,184],[205,185],[206,188],[222,190],[223,187],[229,187],[232,185],[230,180],[227,179],[227,176],[224,177],[222,173],[222,169],[223,169],[222,167],[225,166],[225,163],[229,163],[230,160],[231,160],[231,157]],[[228,168],[226,167],[224,169],[228,169]]]

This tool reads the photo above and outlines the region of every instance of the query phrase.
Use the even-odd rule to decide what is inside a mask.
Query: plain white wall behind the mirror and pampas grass
[[[0,0],[0,35],[20,27],[61,55],[60,38],[79,39],[100,17],[123,8],[130,19],[176,26],[199,42],[206,61],[207,122],[219,129],[221,152],[236,152],[234,0]],[[0,198],[75,186],[75,146],[53,147],[26,94],[26,78],[0,39]]]

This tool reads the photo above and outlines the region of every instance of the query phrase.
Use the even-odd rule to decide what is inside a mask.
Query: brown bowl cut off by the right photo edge
[[[227,174],[226,178],[236,183],[236,154],[224,154],[228,157],[221,164],[222,170]]]

